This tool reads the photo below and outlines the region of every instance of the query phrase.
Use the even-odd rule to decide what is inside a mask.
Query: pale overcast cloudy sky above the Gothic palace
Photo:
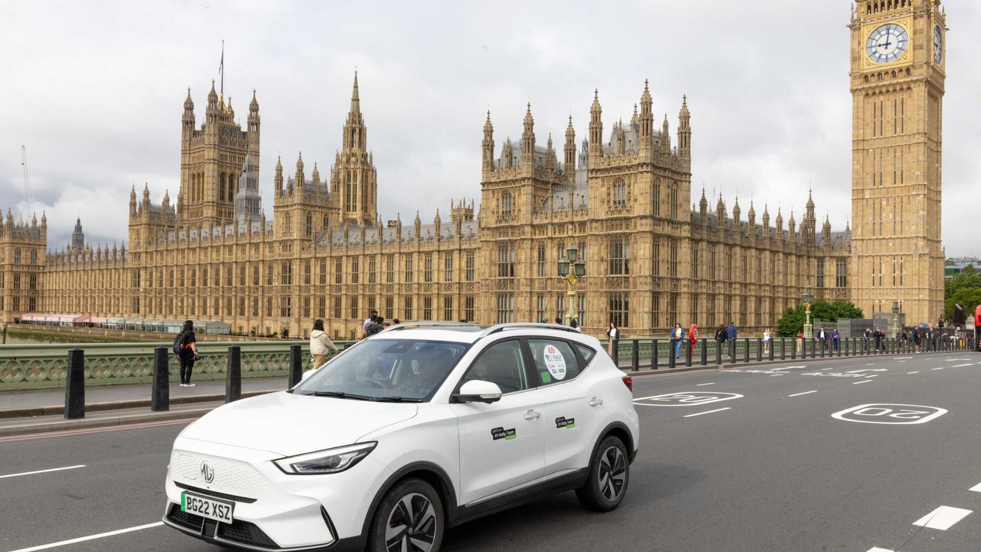
[[[981,88],[976,1],[948,8],[944,98],[944,244],[981,254],[977,215]],[[186,88],[203,119],[226,41],[225,90],[244,120],[252,88],[262,116],[260,184],[271,211],[273,167],[327,172],[340,144],[354,68],[379,169],[382,217],[431,221],[480,193],[481,129],[577,141],[594,88],[603,122],[627,120],[650,80],[655,113],[676,132],[692,110],[693,199],[702,183],[769,203],[788,218],[815,190],[836,229],[851,213],[850,2],[0,2],[0,208],[26,207],[21,144],[49,247],[77,215],[93,242],[125,240],[129,189],[154,201],[180,185]],[[660,117],[660,116],[658,116]],[[967,201],[964,199],[973,199]]]

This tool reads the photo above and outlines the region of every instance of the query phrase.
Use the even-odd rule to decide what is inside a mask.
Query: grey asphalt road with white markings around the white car
[[[972,352],[635,374],[641,453],[617,510],[543,497],[448,529],[442,549],[976,552],[979,391]],[[17,506],[0,551],[216,550],[159,524],[188,421],[0,438]]]

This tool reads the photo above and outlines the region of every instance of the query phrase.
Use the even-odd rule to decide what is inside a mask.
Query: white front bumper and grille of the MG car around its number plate
[[[256,551],[363,549],[368,505],[388,470],[370,457],[326,475],[288,475],[275,453],[179,437],[165,484],[163,521],[220,546]],[[207,462],[213,480],[204,481]],[[232,524],[181,512],[187,491],[234,504]],[[360,546],[360,548],[359,548]]]

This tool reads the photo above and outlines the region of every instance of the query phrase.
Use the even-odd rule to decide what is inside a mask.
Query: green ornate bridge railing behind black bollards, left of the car
[[[336,342],[343,349],[353,342]],[[85,352],[85,385],[150,383],[153,380],[153,350],[170,343],[80,343],[57,345],[0,346],[0,392],[50,389],[64,386],[69,349]],[[312,367],[309,341],[198,342],[201,359],[194,362],[194,379],[225,379],[229,346],[241,348],[241,375],[285,376],[289,371],[289,346],[303,348],[303,367]],[[170,355],[171,379],[178,381],[181,362]]]

